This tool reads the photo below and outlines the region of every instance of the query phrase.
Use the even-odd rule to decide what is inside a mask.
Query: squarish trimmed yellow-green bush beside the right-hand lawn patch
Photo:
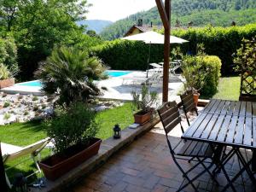
[[[217,92],[221,61],[218,56],[198,55],[184,57],[183,76],[185,88],[201,90],[203,96]]]

